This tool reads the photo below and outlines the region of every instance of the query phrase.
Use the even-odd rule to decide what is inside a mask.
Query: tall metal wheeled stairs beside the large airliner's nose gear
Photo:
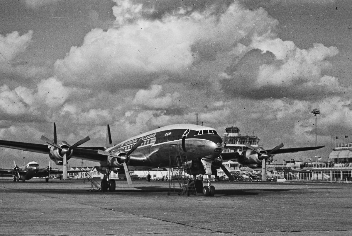
[[[190,168],[187,155],[181,155],[181,147],[178,144],[169,146],[169,192],[168,195],[176,193],[178,195],[197,195],[195,185],[187,174]]]

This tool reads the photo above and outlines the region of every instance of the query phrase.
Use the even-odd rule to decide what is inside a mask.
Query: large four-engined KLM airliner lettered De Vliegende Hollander
[[[230,176],[232,178],[231,173],[222,164],[224,160],[237,160],[240,164],[259,168],[266,159],[275,154],[324,147],[281,149],[283,144],[280,144],[274,149],[265,150],[262,147],[252,147],[247,144],[248,149],[243,152],[222,153],[226,138],[223,140],[214,128],[195,124],[158,127],[116,145],[112,143],[110,127],[107,125],[105,146],[89,147],[80,146],[89,140],[88,136],[73,145],[65,141],[57,142],[54,123],[54,139],[50,140],[45,136],[40,139],[46,144],[0,140],[0,147],[49,154],[50,159],[57,165],[64,165],[64,170],[67,169],[67,160],[70,158],[99,162],[98,170],[107,174],[101,181],[102,191],[115,191],[115,180],[109,179],[111,171],[125,172],[127,183],[132,184],[129,171],[173,167],[170,166],[170,156],[178,153],[182,157],[187,157],[187,172],[194,177],[196,191],[203,192],[205,196],[214,196],[215,187],[209,183],[203,186],[202,181],[196,181],[196,176],[211,175],[221,168],[229,178]],[[179,152],[172,151],[174,147],[178,147]]]

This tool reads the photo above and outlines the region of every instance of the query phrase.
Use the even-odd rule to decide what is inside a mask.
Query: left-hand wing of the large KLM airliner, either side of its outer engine
[[[47,144],[24,143],[8,140],[0,140],[0,147],[7,147],[11,149],[18,149],[29,152],[37,152],[49,154],[50,148]],[[104,155],[98,154],[98,150],[103,147],[76,147],[73,149],[73,157],[84,160],[101,161],[106,159]]]

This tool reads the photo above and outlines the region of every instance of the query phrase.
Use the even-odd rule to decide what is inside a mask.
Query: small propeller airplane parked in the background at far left
[[[13,161],[14,168],[13,169],[0,169],[0,176],[12,176],[13,182],[18,182],[22,180],[23,182],[29,180],[33,177],[45,177],[45,182],[49,182],[50,175],[62,174],[63,170],[52,169],[49,166],[47,168],[39,168],[39,164],[37,162],[29,162],[24,164],[24,166],[18,167]],[[78,173],[84,172],[82,170],[68,170],[69,173]]]

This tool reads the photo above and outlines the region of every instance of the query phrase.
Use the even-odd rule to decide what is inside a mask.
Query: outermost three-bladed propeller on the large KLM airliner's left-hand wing
[[[78,147],[80,145],[82,145],[83,143],[87,142],[88,140],[90,140],[89,136],[79,140],[77,143],[75,143],[74,145],[71,145],[69,147],[61,147],[57,144],[57,137],[56,137],[56,124],[54,123],[54,139],[50,140],[49,138],[45,137],[42,135],[42,137],[40,137],[41,140],[43,140],[44,142],[46,142],[47,144],[49,144],[50,146],[56,147],[57,149],[60,150],[60,156],[63,157],[63,170],[62,170],[62,176],[63,179],[67,179],[68,174],[67,174],[67,155],[69,155],[71,153],[71,150],[73,150],[75,147]]]

